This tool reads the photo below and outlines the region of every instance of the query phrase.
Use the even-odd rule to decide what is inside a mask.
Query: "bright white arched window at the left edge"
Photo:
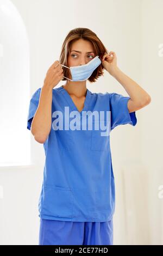
[[[29,42],[16,7],[0,0],[0,166],[30,163]]]

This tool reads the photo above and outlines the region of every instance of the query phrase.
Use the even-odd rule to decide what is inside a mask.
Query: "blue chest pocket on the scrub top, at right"
[[[99,120],[92,121],[91,150],[110,151],[110,133],[106,131],[106,128],[102,130],[101,127],[105,127],[104,120],[100,120],[100,124]],[[108,129],[107,126],[107,130]]]

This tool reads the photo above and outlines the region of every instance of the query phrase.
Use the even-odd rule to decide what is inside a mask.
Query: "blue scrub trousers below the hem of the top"
[[[39,245],[112,245],[113,223],[40,218]]]

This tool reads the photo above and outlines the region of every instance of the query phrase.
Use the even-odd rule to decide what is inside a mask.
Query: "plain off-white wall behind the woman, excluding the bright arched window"
[[[116,52],[119,68],[152,96],[151,104],[136,112],[135,127],[122,125],[112,131],[112,164],[116,182],[114,243],[163,244],[162,201],[158,199],[157,191],[162,179],[161,98],[156,98],[158,89],[160,97],[162,92],[163,58],[157,55],[162,39],[162,1],[103,0],[99,4],[97,0],[12,0],[12,3],[20,12],[29,36],[31,94],[43,85],[47,69],[59,59],[66,34],[73,28],[87,27],[99,36],[109,51]],[[58,86],[64,83],[60,82]],[[92,92],[117,92],[128,96],[121,84],[107,72],[95,84],[87,83],[87,87]],[[152,132],[152,127],[156,127],[156,132]],[[0,185],[4,186],[4,198],[0,199],[3,209],[0,211],[0,243],[3,245],[38,242],[37,203],[45,157],[43,145],[33,138],[31,140],[35,167],[0,169]],[[135,181],[131,179],[132,172],[136,175]],[[146,191],[141,195],[137,173],[142,174],[141,189],[145,186]],[[126,182],[127,186],[124,186]],[[128,182],[134,182],[137,191],[130,191]],[[133,197],[127,197],[128,193],[137,198],[135,204]],[[142,202],[146,201],[143,210]],[[143,212],[142,218],[137,217],[138,211]],[[146,221],[143,221],[146,215]],[[136,232],[133,220],[134,223],[137,220]]]

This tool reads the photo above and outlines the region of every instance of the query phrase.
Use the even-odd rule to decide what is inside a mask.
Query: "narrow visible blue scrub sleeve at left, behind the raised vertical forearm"
[[[30,130],[33,117],[35,115],[37,107],[39,106],[40,92],[41,92],[41,88],[37,89],[36,92],[32,95],[30,102],[29,102],[28,117],[27,117],[27,129],[28,130]]]

